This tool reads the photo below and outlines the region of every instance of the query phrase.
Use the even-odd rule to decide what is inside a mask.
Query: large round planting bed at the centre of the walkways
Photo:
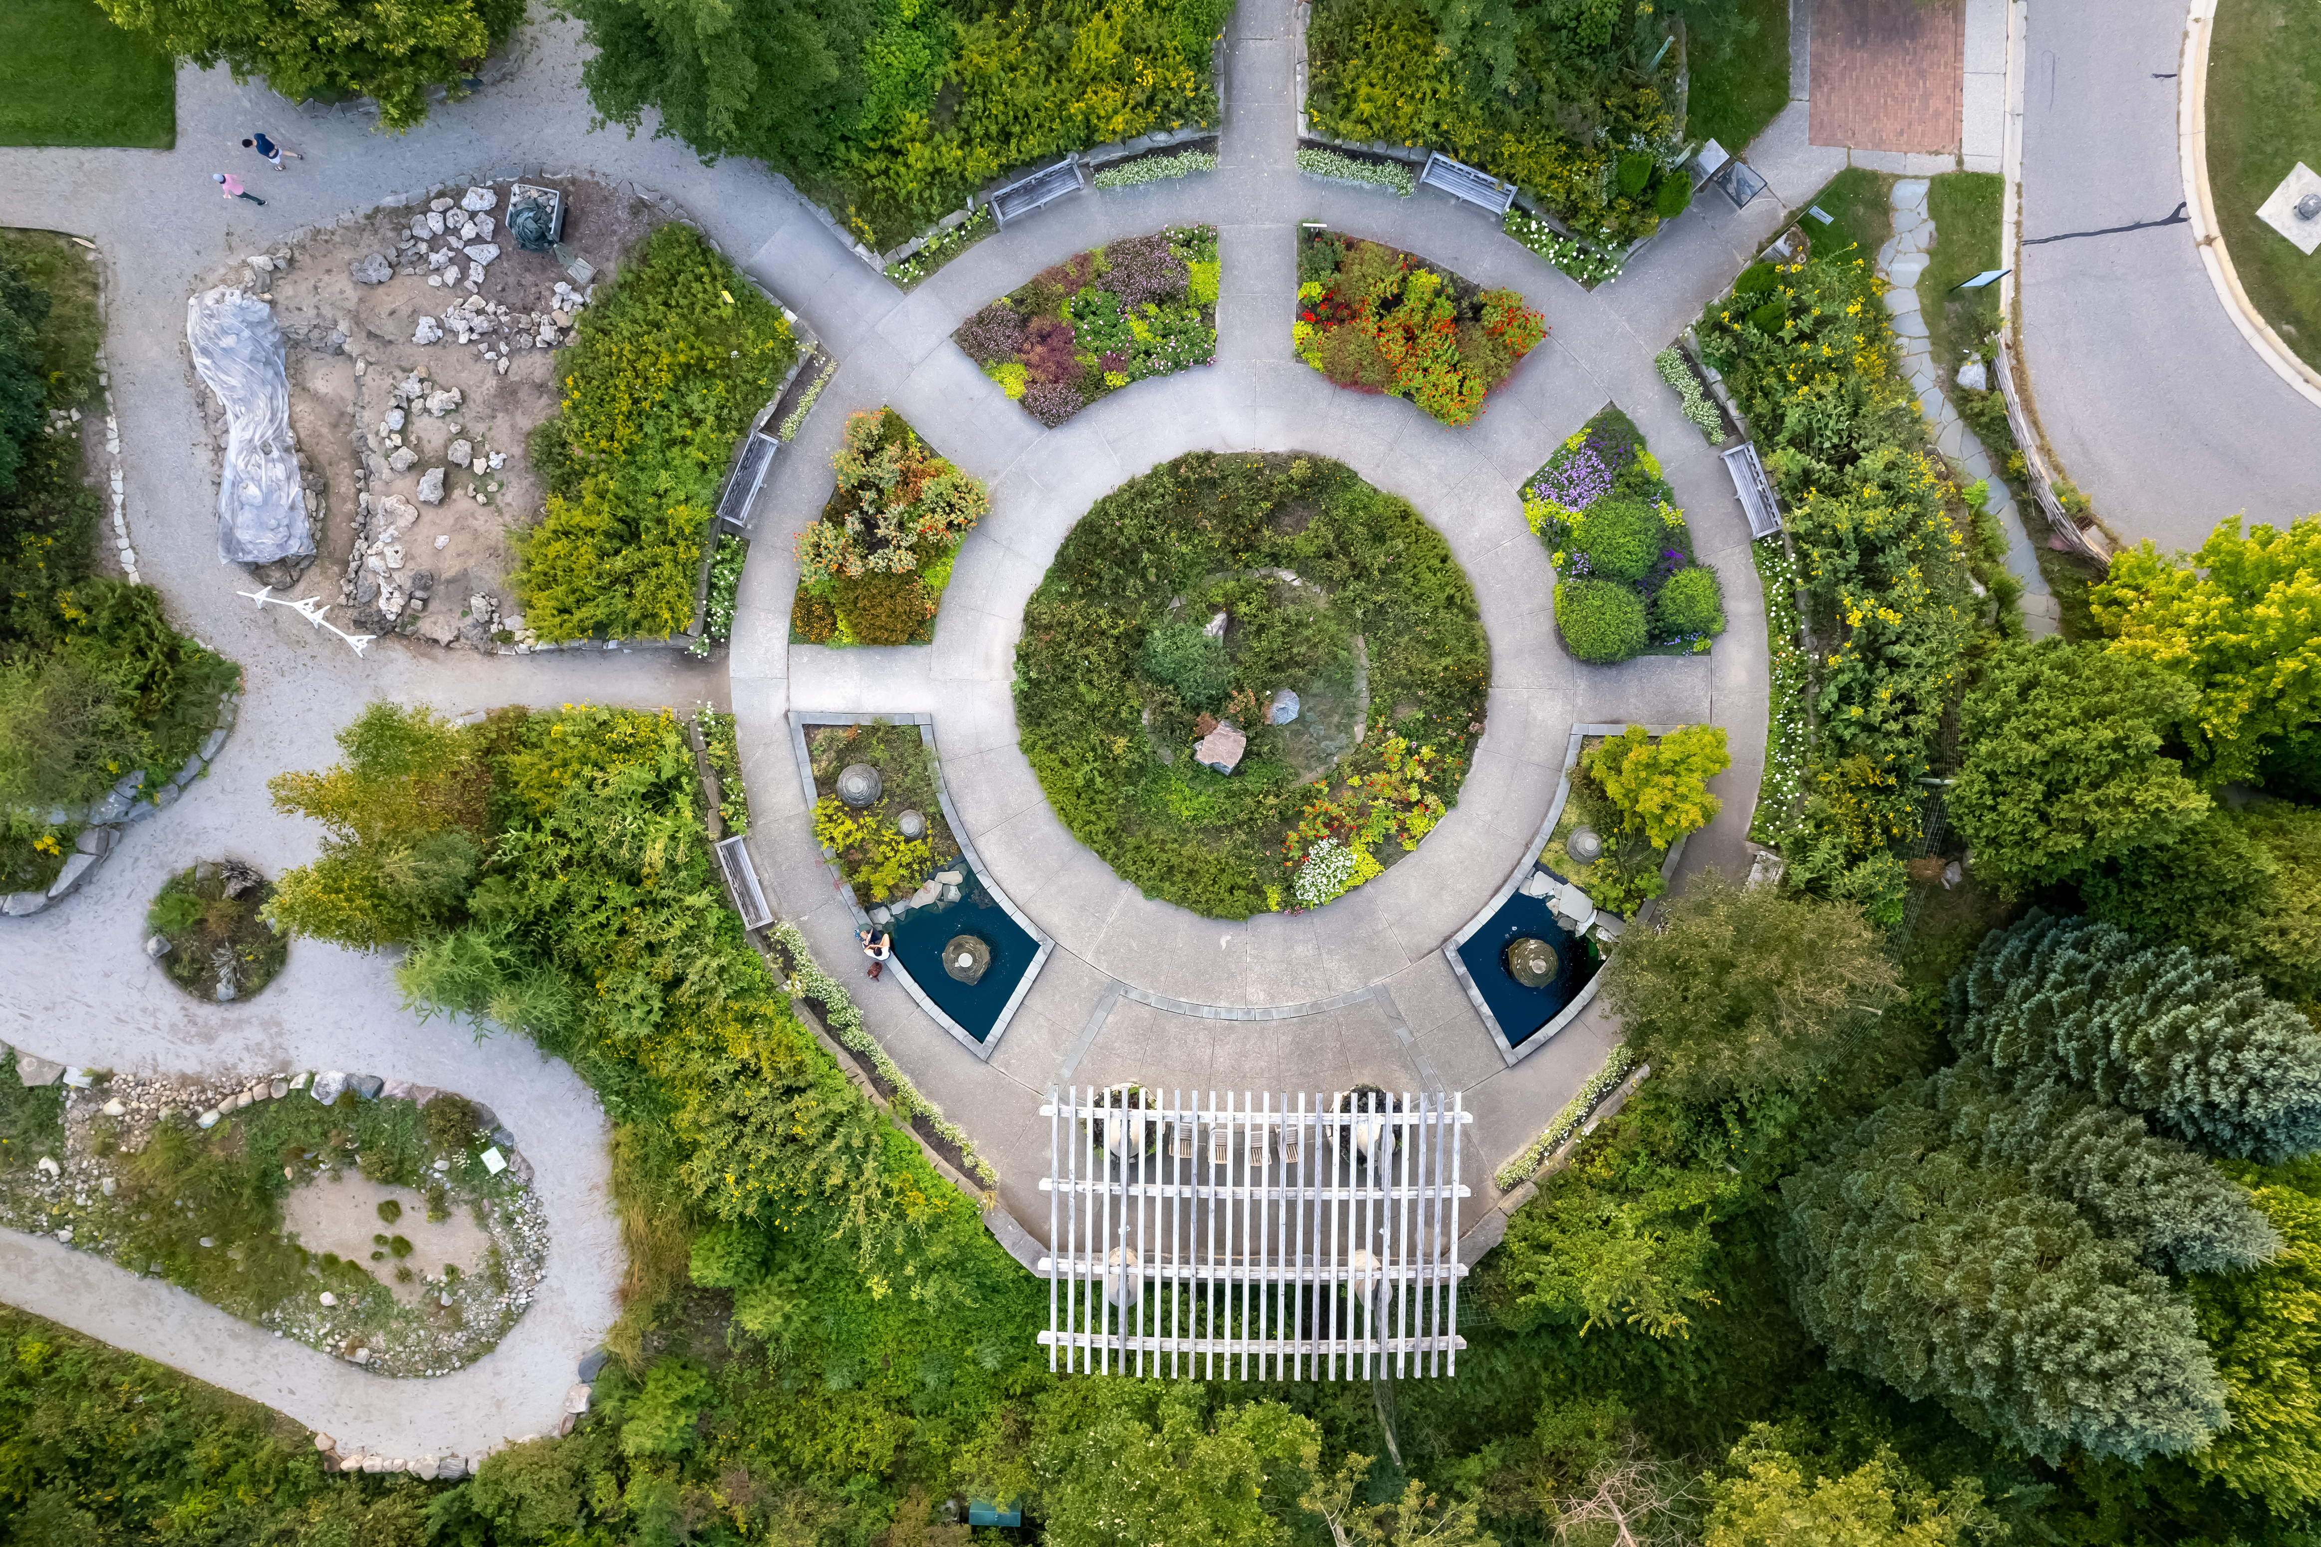
[[[1121,879],[1321,907],[1455,802],[1490,649],[1451,547],[1309,457],[1193,452],[1098,501],[1024,608],[1017,726]]]

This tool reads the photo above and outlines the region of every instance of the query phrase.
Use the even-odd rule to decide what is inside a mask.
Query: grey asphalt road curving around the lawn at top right
[[[2182,44],[2182,0],[2045,0],[2024,81],[2017,295],[2040,424],[2105,522],[2161,547],[2240,510],[2321,510],[2321,408],[2233,327],[2191,227],[2073,234],[2184,204]]]

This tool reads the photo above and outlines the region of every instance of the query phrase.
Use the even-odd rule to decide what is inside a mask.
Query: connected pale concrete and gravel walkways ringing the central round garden
[[[1764,740],[1764,631],[1755,571],[1731,489],[1676,413],[1650,355],[1748,260],[1778,220],[1762,199],[1745,216],[1704,204],[1615,285],[1581,292],[1506,244],[1492,223],[1437,195],[1397,202],[1321,186],[1293,169],[1295,32],[1284,0],[1235,16],[1225,167],[1174,186],[1079,195],[986,241],[903,297],[863,267],[778,181],[743,162],[701,167],[675,141],[587,135],[576,30],[529,28],[506,83],[443,107],[402,139],[364,132],[353,114],[299,114],[223,72],[181,72],[179,148],[0,151],[0,204],[21,220],[93,237],[104,248],[107,364],[125,443],[130,531],[139,568],[183,626],[248,668],[241,726],[216,772],[151,819],[67,907],[0,930],[0,972],[21,988],[0,1004],[0,1037],[74,1062],[142,1069],[367,1067],[476,1090],[511,1120],[541,1176],[550,1220],[543,1299],[490,1359],[427,1382],[388,1382],[276,1345],[253,1364],[248,1329],[151,1285],[125,1287],[102,1264],[12,1241],[0,1255],[7,1299],[160,1357],[204,1380],[272,1401],[346,1443],[388,1454],[473,1452],[548,1429],[571,1359],[613,1315],[617,1241],[606,1206],[603,1120],[562,1065],[511,1041],[418,1023],[397,1009],[388,963],[299,944],[290,967],[248,1004],[183,1000],[137,953],[139,921],[160,879],[193,858],[232,851],[265,867],[313,851],[306,823],[281,819],[265,779],[330,761],[330,733],[371,696],[446,710],[527,700],[694,703],[726,691],[743,721],[759,867],[817,951],[849,960],[847,921],[796,812],[803,805],[782,717],[801,707],[938,714],[945,763],[993,872],[1065,949],[1042,976],[993,1065],[968,1058],[891,983],[863,995],[873,1030],[931,1095],[977,1134],[1007,1178],[1005,1197],[1037,1218],[1031,1183],[1031,1095],[1072,1058],[1086,1009],[1116,979],[1200,1002],[1279,1004],[1318,986],[1383,981],[1386,1000],[1293,1032],[1223,1034],[1207,1023],[1114,1014],[1084,1046],[1075,1076],[1140,1074],[1209,1085],[1342,1085],[1432,1076],[1469,1090],[1481,1113],[1469,1176],[1485,1176],[1569,1097],[1613,1039],[1601,1016],[1576,1023],[1513,1074],[1455,993],[1434,946],[1509,874],[1555,789],[1574,719],[1727,724],[1734,770],[1727,809],[1699,835],[1687,867],[1745,863],[1743,833]],[[214,199],[207,174],[232,144],[267,128],[311,160],[255,186],[265,211]],[[1841,155],[1803,144],[1803,104],[1759,141],[1759,167],[1787,202],[1810,195]],[[808,315],[843,359],[757,508],[729,682],[717,666],[661,654],[478,659],[406,652],[357,661],[283,612],[232,596],[239,571],[216,564],[214,450],[183,362],[183,297],[200,274],[344,211],[446,181],[594,172],[671,195],[752,274]],[[1223,348],[1212,371],[1116,394],[1058,431],[1040,431],[947,341],[961,315],[1077,248],[1174,220],[1223,227]],[[1427,253],[1548,311],[1555,334],[1467,431],[1416,408],[1335,392],[1288,357],[1290,223],[1323,218]],[[156,234],[167,239],[156,239]],[[1731,629],[1708,661],[1639,661],[1581,670],[1553,640],[1548,573],[1520,526],[1516,480],[1604,401],[1618,399],[1653,438],[1692,513],[1701,557],[1725,578]],[[794,568],[789,533],[829,492],[829,450],[843,411],[894,401],[945,452],[993,482],[993,517],[961,554],[942,633],[921,652],[819,652],[787,645]],[[1091,499],[1186,448],[1300,448],[1342,457],[1413,499],[1453,540],[1492,629],[1490,733],[1460,812],[1386,881],[1316,918],[1216,925],[1135,898],[1061,835],[1014,749],[1005,682],[1021,601],[1063,531]],[[1402,1032],[1409,1034],[1404,1039]],[[1420,1058],[1413,1058],[1418,1046]],[[1165,1062],[1167,1072],[1156,1069]],[[1485,1190],[1488,1192],[1488,1190]],[[104,1285],[121,1285],[118,1292]],[[172,1299],[174,1297],[174,1299]],[[153,1301],[153,1303],[146,1303]],[[125,1310],[132,1306],[132,1310]],[[262,1352],[262,1350],[260,1350]]]

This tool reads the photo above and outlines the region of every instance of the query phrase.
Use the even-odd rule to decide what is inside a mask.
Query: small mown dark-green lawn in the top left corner
[[[93,0],[0,5],[0,146],[176,144],[176,60]]]

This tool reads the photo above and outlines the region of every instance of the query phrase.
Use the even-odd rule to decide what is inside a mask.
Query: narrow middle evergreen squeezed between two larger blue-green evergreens
[[[2249,1269],[2282,1245],[2247,1188],[2175,1139],[2147,1132],[2133,1111],[2063,1083],[2010,1092],[1980,1058],[1936,1074],[1926,1095],[1968,1160],[2019,1167],[2033,1188],[2077,1206],[2149,1269]]]

